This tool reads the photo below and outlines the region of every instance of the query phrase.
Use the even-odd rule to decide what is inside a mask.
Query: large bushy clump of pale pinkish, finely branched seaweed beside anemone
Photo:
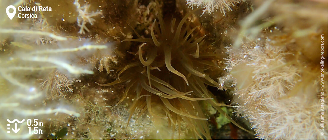
[[[232,76],[227,79],[236,79],[237,112],[249,119],[258,138],[326,139],[319,135],[318,70],[303,71],[296,60],[289,60],[293,52],[271,42],[244,42],[240,49],[228,48],[228,53],[226,70]],[[326,100],[327,93],[322,95]]]

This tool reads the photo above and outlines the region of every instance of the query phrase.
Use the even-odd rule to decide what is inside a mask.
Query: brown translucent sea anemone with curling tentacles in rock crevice
[[[206,36],[199,35],[199,26],[190,27],[188,17],[193,12],[187,13],[178,24],[176,18],[166,23],[159,14],[159,25],[154,20],[150,29],[144,26],[151,38],[144,38],[135,31],[138,38],[122,41],[142,42],[138,48],[130,48],[137,51],[129,52],[134,55],[132,62],[119,69],[117,80],[97,84],[111,86],[127,81],[124,95],[117,104],[127,97],[132,99],[130,118],[135,109],[140,108],[141,112],[147,110],[154,117],[168,118],[169,126],[173,130],[177,126],[179,134],[183,120],[195,132],[195,138],[211,139],[199,100],[207,101],[220,113],[224,111],[219,106],[228,105],[216,103],[207,90],[206,85],[218,87],[206,74],[208,69],[217,68],[218,58],[215,47],[205,42]]]

